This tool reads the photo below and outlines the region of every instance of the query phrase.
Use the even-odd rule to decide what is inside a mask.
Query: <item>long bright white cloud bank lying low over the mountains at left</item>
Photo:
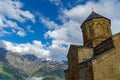
[[[44,49],[45,46],[40,41],[37,40],[34,40],[32,43],[25,44],[17,44],[1,40],[0,47],[21,54],[33,54],[36,55],[37,57],[42,58],[47,58],[50,55],[49,50]]]

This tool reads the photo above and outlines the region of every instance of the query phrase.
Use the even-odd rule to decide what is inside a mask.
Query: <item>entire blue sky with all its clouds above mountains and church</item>
[[[120,31],[119,0],[0,0],[0,47],[20,54],[65,59],[82,45],[80,25],[94,11]]]

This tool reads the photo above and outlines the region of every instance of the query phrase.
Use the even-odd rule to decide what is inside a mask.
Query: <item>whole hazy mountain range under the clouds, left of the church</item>
[[[3,65],[0,69],[3,70],[4,73],[7,71],[3,68],[7,67],[9,73],[13,74],[14,72],[17,74],[17,77],[23,78],[22,80],[25,78],[30,80],[31,77],[38,77],[44,80],[51,78],[52,80],[63,80],[64,69],[67,68],[66,61],[43,59],[31,54],[21,55],[20,53],[7,51],[4,48],[0,48],[0,63]],[[0,72],[0,79],[3,79],[1,77],[3,75],[9,77],[9,79],[16,77],[15,74],[13,74],[14,76],[8,76],[4,73]]]

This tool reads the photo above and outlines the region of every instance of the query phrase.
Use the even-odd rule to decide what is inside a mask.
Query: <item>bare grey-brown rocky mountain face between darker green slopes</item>
[[[8,52],[6,59],[12,66],[22,70],[27,75],[33,74],[40,68],[38,58],[33,55],[20,55],[20,53]]]

